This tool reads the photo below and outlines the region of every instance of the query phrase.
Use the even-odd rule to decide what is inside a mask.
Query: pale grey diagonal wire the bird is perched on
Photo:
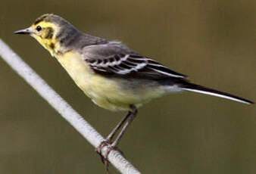
[[[83,117],[73,110],[67,101],[64,101],[33,69],[30,68],[5,42],[0,39],[0,56],[15,70],[36,92],[41,95],[58,113],[61,114],[89,143],[95,148],[104,141],[103,138]],[[108,147],[102,149],[103,153]],[[121,172],[129,174],[140,173],[129,161],[127,161],[118,151],[111,151],[108,155],[109,161]]]

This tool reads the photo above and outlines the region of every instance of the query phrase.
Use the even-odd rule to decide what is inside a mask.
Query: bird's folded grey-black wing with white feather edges
[[[83,57],[95,73],[106,76],[143,79],[186,78],[186,75],[176,73],[117,42],[87,46],[83,48]]]

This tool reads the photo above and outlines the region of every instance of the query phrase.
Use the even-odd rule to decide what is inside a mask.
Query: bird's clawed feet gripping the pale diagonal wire
[[[106,151],[105,154],[103,154],[103,153],[102,153],[102,149],[103,149],[105,146],[108,146],[108,150]],[[111,144],[111,141],[109,141],[109,140],[101,141],[101,144],[99,144],[98,148],[95,148],[95,151],[96,151],[97,154],[99,154],[100,157],[101,157],[102,163],[105,164],[105,167],[106,167],[107,171],[108,171],[108,167],[109,167],[108,154],[110,154],[110,152],[111,152],[112,150],[119,151],[120,154],[122,154],[122,155],[124,156],[123,152],[120,151],[120,149],[117,148],[117,146],[113,146],[113,144]]]

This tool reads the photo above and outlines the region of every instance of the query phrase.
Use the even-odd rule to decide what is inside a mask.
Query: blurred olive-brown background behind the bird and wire
[[[193,82],[256,100],[256,2],[2,0],[0,38],[102,135],[125,113],[101,109],[42,46],[14,36],[55,13],[118,39]],[[120,143],[142,173],[255,173],[256,107],[193,93],[146,104]],[[106,173],[94,148],[0,60],[0,172]],[[111,166],[109,173],[118,173]]]

